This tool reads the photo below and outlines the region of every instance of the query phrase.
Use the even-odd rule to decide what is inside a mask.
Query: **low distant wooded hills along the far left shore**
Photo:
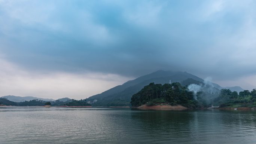
[[[13,105],[13,106],[43,106],[43,105],[52,105],[52,106],[61,106],[61,105],[67,105],[67,106],[88,106],[90,104],[87,104],[86,100],[75,100],[71,99],[69,101],[42,101],[39,99],[34,99],[30,101],[24,101],[24,102],[13,102],[9,101],[7,98],[0,98],[0,105]]]

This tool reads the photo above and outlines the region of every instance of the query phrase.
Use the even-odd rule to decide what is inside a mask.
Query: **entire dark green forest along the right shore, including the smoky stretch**
[[[207,86],[204,86],[207,88]],[[205,90],[205,89],[204,89]],[[150,83],[137,94],[132,95],[131,105],[183,105],[188,108],[210,107],[211,105],[220,107],[256,107],[256,89],[251,92],[244,90],[239,92],[230,89],[221,89],[220,92],[198,91],[196,94],[189,91],[188,85],[182,86],[180,83],[154,84]]]

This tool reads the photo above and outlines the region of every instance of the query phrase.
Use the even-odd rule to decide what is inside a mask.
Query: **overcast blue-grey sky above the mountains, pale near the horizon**
[[[0,0],[0,96],[84,99],[156,70],[256,88],[255,0]]]

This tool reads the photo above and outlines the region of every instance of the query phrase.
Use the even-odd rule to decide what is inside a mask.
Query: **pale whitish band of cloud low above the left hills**
[[[130,80],[116,74],[31,73],[0,59],[0,95],[85,99]]]

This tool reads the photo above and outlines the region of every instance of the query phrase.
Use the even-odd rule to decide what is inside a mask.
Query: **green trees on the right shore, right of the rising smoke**
[[[220,95],[214,100],[220,107],[256,107],[256,89],[239,92],[221,89]]]

